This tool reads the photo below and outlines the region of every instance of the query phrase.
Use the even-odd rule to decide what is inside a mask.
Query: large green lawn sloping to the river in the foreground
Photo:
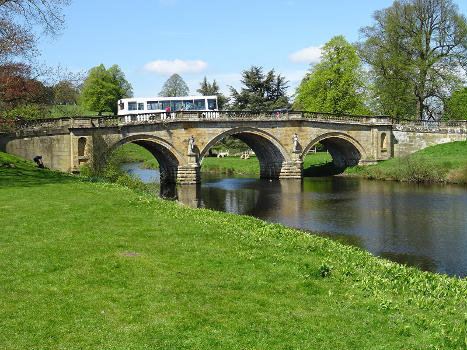
[[[0,153],[2,349],[463,349],[467,281]]]

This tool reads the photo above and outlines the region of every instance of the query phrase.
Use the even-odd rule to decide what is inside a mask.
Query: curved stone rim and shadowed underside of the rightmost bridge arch
[[[357,165],[361,159],[367,158],[365,150],[357,140],[338,132],[326,133],[311,140],[303,150],[302,157],[318,142],[326,147],[331,154],[332,162],[339,168]]]

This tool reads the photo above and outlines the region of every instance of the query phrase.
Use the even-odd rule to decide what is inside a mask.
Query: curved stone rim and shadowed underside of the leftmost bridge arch
[[[183,156],[167,141],[151,135],[126,137],[111,147],[111,152],[125,143],[132,142],[144,147],[159,163],[161,182],[176,182],[178,166],[183,164]]]

